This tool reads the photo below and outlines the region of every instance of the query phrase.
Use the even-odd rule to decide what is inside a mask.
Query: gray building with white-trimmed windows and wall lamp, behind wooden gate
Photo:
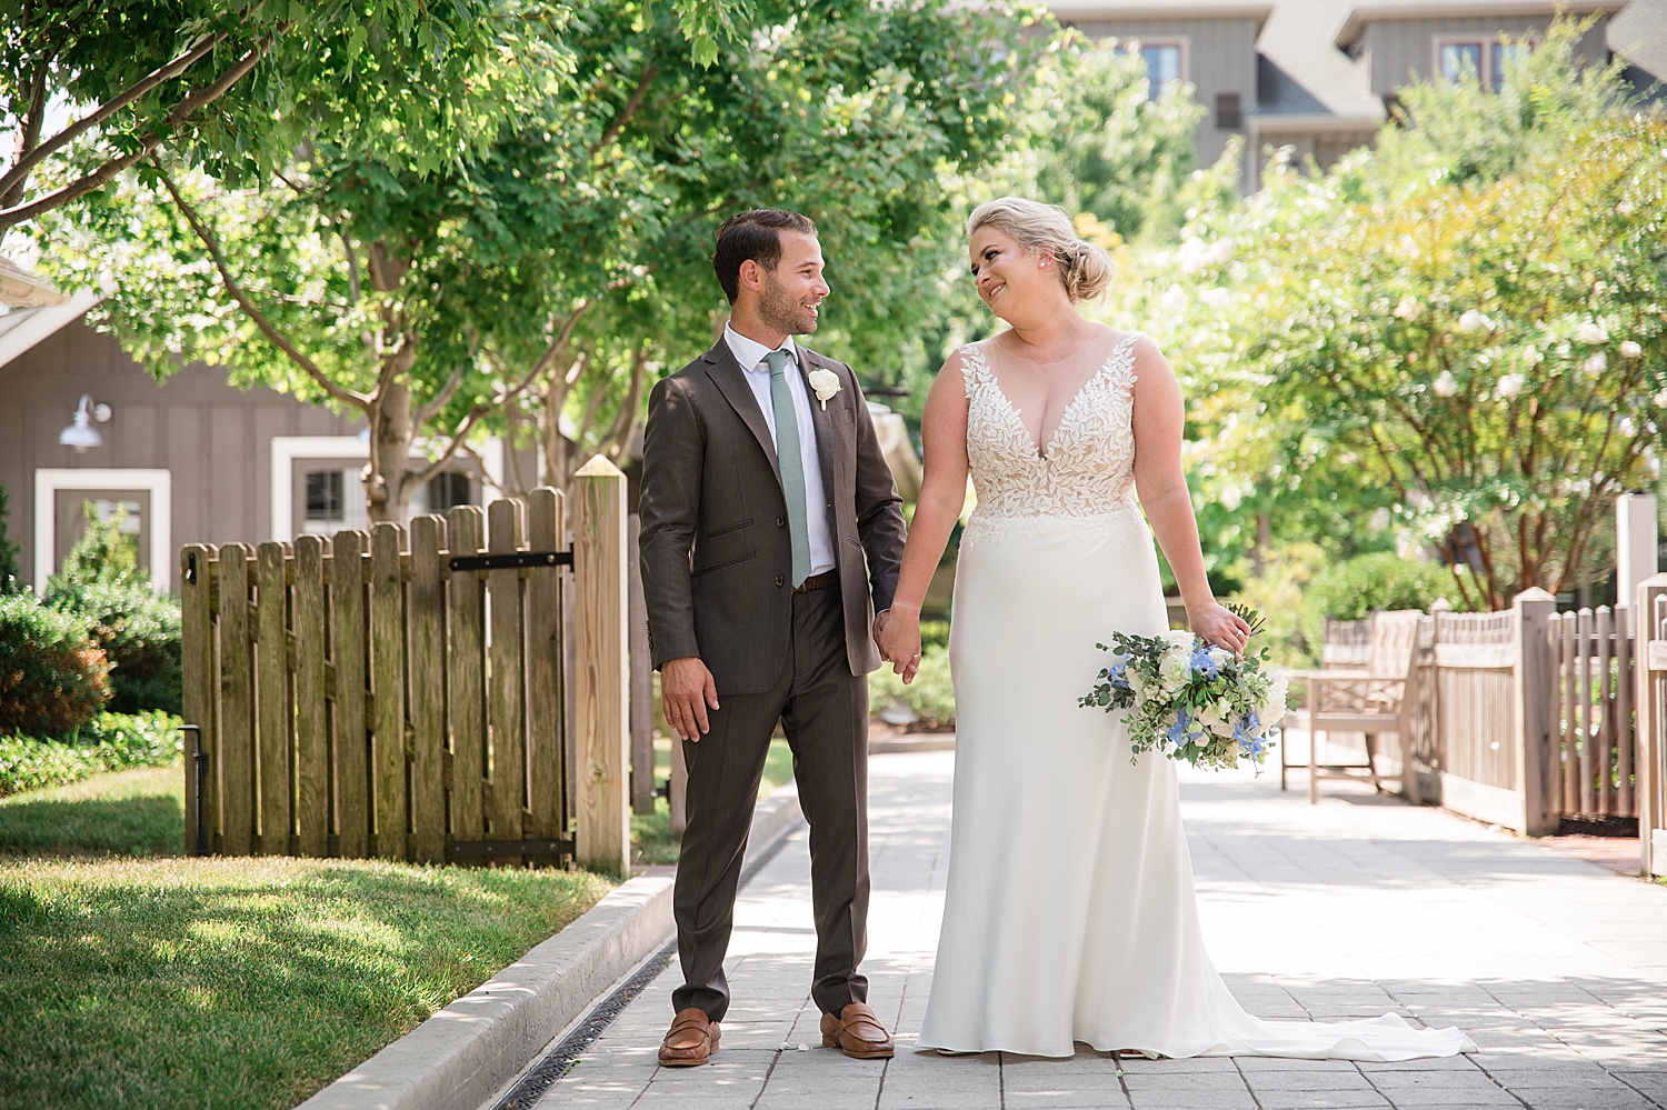
[[[33,282],[33,287],[30,287]],[[363,527],[368,457],[357,413],[268,388],[240,390],[223,367],[192,363],[157,382],[65,297],[0,263],[0,485],[25,585],[40,590],[85,530],[85,505],[123,513],[140,565],[177,588],[182,543],[258,543]],[[412,512],[493,500],[502,445],[460,462]]]

